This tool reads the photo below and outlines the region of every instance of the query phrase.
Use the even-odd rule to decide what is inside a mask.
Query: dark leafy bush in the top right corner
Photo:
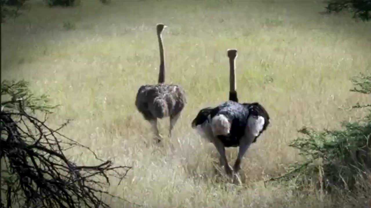
[[[325,8],[328,13],[348,10],[354,12],[353,18],[359,17],[363,21],[371,19],[371,0],[330,0]]]

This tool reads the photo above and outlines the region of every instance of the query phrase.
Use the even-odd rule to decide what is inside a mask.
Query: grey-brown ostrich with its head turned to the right
[[[165,82],[165,58],[162,45],[162,30],[167,27],[164,24],[157,24],[157,37],[160,47],[160,73],[158,84],[142,85],[137,93],[135,105],[144,119],[150,122],[155,133],[157,142],[162,139],[157,128],[157,118],[170,117],[169,137],[177,122],[184,105],[187,103],[185,92],[182,87],[175,84],[164,84]]]

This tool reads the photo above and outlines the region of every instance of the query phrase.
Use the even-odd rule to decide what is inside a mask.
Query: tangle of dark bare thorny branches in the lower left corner
[[[6,180],[1,192],[7,207],[109,207],[104,195],[127,201],[106,189],[110,178],[120,184],[131,167],[101,160],[90,148],[61,134],[69,121],[52,129],[46,125],[47,117],[41,121],[24,110],[1,111],[0,120],[0,160],[7,169],[2,171],[1,179]],[[73,147],[89,150],[101,164],[76,165],[63,153]]]

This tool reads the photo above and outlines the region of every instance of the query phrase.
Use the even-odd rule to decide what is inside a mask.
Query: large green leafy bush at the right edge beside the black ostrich
[[[358,93],[371,94],[371,76],[360,74],[352,79]],[[371,104],[357,103],[351,108],[366,108]],[[288,167],[288,173],[270,181],[293,181],[295,187],[316,184],[322,190],[355,188],[359,178],[371,173],[371,110],[355,122],[343,122],[342,130],[315,131],[303,127],[299,137],[289,143],[304,157]],[[370,186],[371,187],[371,186]]]

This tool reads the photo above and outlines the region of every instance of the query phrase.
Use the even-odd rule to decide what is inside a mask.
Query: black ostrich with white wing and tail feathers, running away
[[[220,164],[229,176],[238,173],[243,155],[269,124],[269,115],[259,103],[238,103],[236,92],[235,63],[237,50],[227,52],[230,63],[229,101],[215,108],[199,111],[192,121],[201,136],[212,142],[220,154]],[[225,147],[239,147],[239,154],[232,168],[225,154]],[[236,175],[237,177],[237,175]],[[241,181],[237,177],[239,183]]]

